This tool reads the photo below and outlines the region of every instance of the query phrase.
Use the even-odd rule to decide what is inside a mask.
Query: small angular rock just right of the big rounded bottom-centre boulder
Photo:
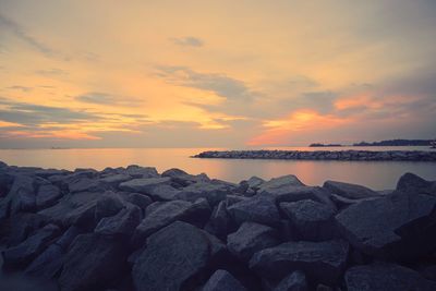
[[[244,222],[228,235],[229,251],[241,260],[250,260],[254,253],[279,244],[276,230],[255,222]]]

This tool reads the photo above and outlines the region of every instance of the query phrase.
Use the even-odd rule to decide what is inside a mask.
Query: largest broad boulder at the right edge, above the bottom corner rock
[[[436,197],[397,192],[351,205],[336,220],[349,242],[371,256],[413,259],[436,245]]]

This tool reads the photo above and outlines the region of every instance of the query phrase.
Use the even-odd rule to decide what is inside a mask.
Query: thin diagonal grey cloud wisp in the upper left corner
[[[55,54],[51,48],[49,48],[35,37],[31,36],[21,25],[2,14],[0,14],[0,31],[9,32],[16,38],[27,44],[29,47],[38,50],[47,57],[52,57]]]

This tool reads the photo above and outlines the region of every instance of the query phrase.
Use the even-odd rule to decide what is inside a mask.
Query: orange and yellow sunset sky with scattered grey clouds
[[[0,0],[0,147],[436,137],[434,0]]]

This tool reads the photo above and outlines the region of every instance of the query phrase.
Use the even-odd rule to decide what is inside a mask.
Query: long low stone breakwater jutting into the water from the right
[[[208,150],[194,158],[218,159],[294,159],[294,160],[397,160],[436,161],[431,150]]]

